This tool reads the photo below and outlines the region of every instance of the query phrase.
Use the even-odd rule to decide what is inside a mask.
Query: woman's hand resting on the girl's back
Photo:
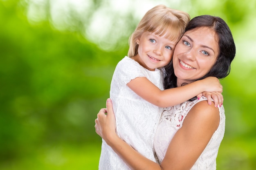
[[[102,139],[108,144],[113,135],[116,134],[116,120],[115,114],[112,108],[111,99],[107,99],[107,108],[101,108],[97,114],[97,119],[95,119],[95,129],[96,133],[101,136]]]

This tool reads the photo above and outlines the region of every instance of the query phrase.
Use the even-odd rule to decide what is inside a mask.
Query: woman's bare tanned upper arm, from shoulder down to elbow
[[[218,128],[218,108],[202,101],[189,111],[171,140],[161,163],[163,170],[190,170]]]

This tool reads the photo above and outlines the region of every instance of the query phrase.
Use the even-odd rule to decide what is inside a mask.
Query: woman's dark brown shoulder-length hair
[[[201,77],[217,77],[219,79],[227,77],[230,72],[231,62],[236,55],[236,46],[232,33],[227,23],[220,17],[211,15],[200,15],[193,18],[186,26],[186,31],[193,31],[200,27],[209,27],[216,33],[216,40],[218,40],[219,53],[217,56],[216,63],[213,65],[209,73]],[[177,87],[177,77],[174,74],[173,62],[171,61],[166,67],[166,77],[164,79],[164,88]],[[197,79],[199,80],[199,79]],[[195,80],[196,81],[196,80]]]

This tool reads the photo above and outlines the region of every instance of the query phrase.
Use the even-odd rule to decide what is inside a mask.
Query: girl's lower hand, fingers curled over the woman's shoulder
[[[209,105],[212,103],[211,99],[213,99],[215,107],[221,106],[223,104],[223,96],[220,92],[203,92],[197,95],[198,99],[200,99],[202,96],[207,98]]]

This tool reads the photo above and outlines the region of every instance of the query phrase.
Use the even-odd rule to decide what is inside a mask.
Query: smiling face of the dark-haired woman
[[[215,31],[200,27],[184,33],[173,53],[177,86],[206,75],[215,64],[219,46]]]

